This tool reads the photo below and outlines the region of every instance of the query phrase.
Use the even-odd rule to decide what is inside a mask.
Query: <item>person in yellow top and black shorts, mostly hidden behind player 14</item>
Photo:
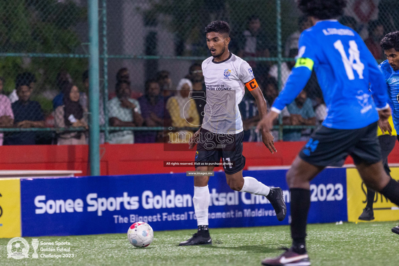
[[[389,166],[388,166],[388,155],[393,150],[393,147],[395,147],[397,133],[393,126],[392,116],[389,117],[388,121],[389,121],[389,125],[391,126],[391,129],[392,129],[392,132],[391,132],[392,135],[390,135],[389,132],[387,132],[387,131],[382,132],[381,128],[378,127],[377,136],[378,136],[378,140],[379,140],[379,146],[381,146],[381,158],[382,158],[382,163],[384,165],[385,172],[387,172],[387,175],[391,176],[389,174],[391,172],[391,170],[389,169]],[[359,216],[359,220],[363,220],[363,221],[374,220],[374,212],[373,212],[374,197],[375,197],[375,191],[373,189],[370,189],[369,187],[367,187],[367,205],[363,209],[363,213],[361,213],[361,215]]]

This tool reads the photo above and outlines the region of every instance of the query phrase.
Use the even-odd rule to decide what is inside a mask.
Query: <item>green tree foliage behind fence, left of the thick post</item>
[[[77,53],[81,47],[76,26],[87,20],[87,14],[85,8],[72,0],[0,0],[0,18],[0,53],[70,54]],[[66,69],[81,85],[87,59],[44,55],[0,57],[0,75],[6,79],[4,93],[15,88],[16,75],[24,71],[36,75],[34,94],[53,89],[55,76],[61,69]]]

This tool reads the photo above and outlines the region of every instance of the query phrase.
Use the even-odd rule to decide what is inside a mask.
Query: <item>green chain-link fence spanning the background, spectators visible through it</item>
[[[399,30],[396,2],[348,0],[339,18],[361,35],[379,62],[385,60],[379,41]],[[170,141],[179,132],[193,132],[197,116],[202,122],[201,97],[181,110],[188,102],[181,91],[187,84],[190,95],[203,93],[209,22],[229,23],[229,50],[252,67],[268,107],[295,63],[300,33],[312,26],[295,0],[99,0],[99,9],[99,122],[101,142],[110,143]],[[87,143],[87,0],[4,0],[0,15],[4,144]],[[284,110],[275,121],[275,139],[306,140],[324,120],[326,106],[314,73],[293,104],[312,112],[303,117]],[[250,93],[239,110],[244,140],[261,141]]]

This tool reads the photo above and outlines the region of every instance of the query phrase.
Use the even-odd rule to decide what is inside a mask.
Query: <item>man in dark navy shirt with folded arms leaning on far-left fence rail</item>
[[[30,100],[32,89],[30,81],[17,80],[16,90],[18,99],[11,104],[14,113],[14,126],[17,128],[43,128],[45,127],[44,114],[39,102]],[[5,145],[34,145],[36,132],[13,132],[4,138]]]

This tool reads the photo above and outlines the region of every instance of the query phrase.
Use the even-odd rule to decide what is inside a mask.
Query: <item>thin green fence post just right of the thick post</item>
[[[105,120],[105,142],[109,139],[109,119],[108,119],[108,49],[107,49],[107,0],[103,0],[103,71],[104,71],[104,91],[103,91],[103,108]]]

